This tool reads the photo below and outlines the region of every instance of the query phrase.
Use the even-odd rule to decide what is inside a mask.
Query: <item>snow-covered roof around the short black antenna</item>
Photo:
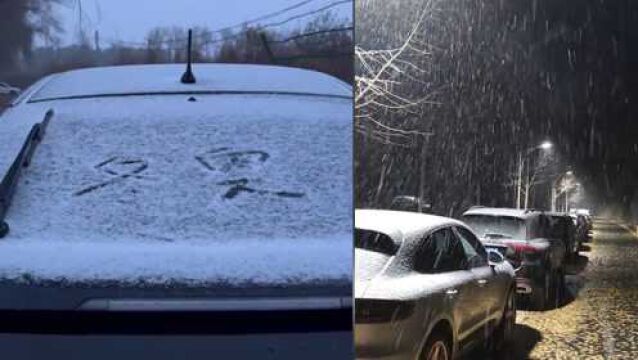
[[[283,66],[193,64],[197,82],[180,82],[184,64],[94,67],[51,75],[28,102],[98,96],[266,93],[352,97],[352,87],[317,71]]]

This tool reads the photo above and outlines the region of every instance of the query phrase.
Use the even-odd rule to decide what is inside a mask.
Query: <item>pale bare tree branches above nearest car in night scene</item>
[[[382,197],[386,183],[395,180],[388,179],[388,174],[400,161],[393,156],[396,148],[412,149],[410,151],[417,154],[419,211],[422,210],[421,204],[424,204],[427,138],[431,132],[422,130],[424,124],[412,129],[405,121],[395,125],[392,117],[401,115],[401,118],[407,116],[418,119],[422,105],[432,102],[433,93],[413,96],[402,90],[411,88],[407,83],[417,83],[427,89],[427,84],[422,80],[427,70],[422,64],[429,60],[431,49],[422,40],[421,34],[434,12],[433,4],[434,1],[430,0],[422,6],[414,25],[399,46],[376,49],[364,48],[365,45],[355,47],[355,131],[376,142],[382,152],[378,182],[376,186],[368,185],[374,188],[371,194],[374,204],[384,202]],[[367,151],[371,150],[368,148]]]

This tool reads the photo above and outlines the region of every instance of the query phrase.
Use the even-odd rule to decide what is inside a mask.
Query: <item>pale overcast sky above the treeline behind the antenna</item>
[[[82,27],[88,34],[100,33],[102,46],[110,41],[143,42],[147,32],[156,26],[207,26],[215,30],[252,20],[299,3],[302,6],[261,23],[285,20],[325,7],[338,0],[66,0],[58,15],[65,34],[62,45],[77,38],[82,9]],[[331,8],[339,17],[352,19],[352,2]],[[293,21],[288,28],[303,25],[313,16]],[[284,27],[285,29],[285,27]]]

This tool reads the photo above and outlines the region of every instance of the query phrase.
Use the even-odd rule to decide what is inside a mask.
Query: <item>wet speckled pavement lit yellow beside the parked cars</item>
[[[568,272],[566,295],[554,309],[518,311],[502,358],[638,359],[638,237],[597,221]]]

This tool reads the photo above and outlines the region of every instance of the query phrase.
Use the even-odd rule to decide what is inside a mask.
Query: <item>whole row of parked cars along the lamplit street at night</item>
[[[591,218],[473,207],[459,220],[355,211],[358,358],[451,359],[498,352],[519,300],[558,305],[566,265],[589,241]]]

